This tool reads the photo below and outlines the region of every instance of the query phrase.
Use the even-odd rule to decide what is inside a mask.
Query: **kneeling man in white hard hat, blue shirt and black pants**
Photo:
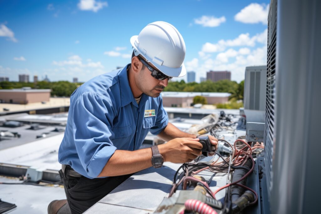
[[[164,161],[189,162],[202,153],[196,135],[168,122],[160,96],[172,77],[186,74],[182,36],[156,21],[131,44],[131,64],[87,81],[70,97],[58,158],[72,213],[84,212],[135,172]],[[168,142],[139,149],[148,132]],[[57,211],[58,202],[48,211]]]

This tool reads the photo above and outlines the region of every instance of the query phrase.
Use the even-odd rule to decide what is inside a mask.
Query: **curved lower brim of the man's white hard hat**
[[[143,54],[142,51],[137,47],[136,44],[139,44],[137,38],[138,38],[138,36],[132,36],[130,38],[130,43],[132,44],[132,46],[138,51],[138,53],[140,55],[142,55],[145,59],[147,59],[161,73],[164,73],[165,75],[170,76],[170,77],[182,77],[182,76],[186,75],[186,68],[185,68],[184,63],[182,63],[182,65],[178,68],[171,68],[171,67],[167,67],[165,65],[159,65],[159,64],[153,62],[152,61],[153,59],[151,59],[148,56],[146,56],[145,54]]]

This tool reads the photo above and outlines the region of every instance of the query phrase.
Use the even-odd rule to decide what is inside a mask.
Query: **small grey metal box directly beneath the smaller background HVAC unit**
[[[265,123],[246,123],[246,141],[263,142]]]

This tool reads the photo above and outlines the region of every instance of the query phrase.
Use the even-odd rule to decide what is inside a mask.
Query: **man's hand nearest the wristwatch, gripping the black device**
[[[198,141],[198,138],[175,138],[159,145],[158,149],[164,158],[164,162],[186,163],[202,154],[202,144]]]

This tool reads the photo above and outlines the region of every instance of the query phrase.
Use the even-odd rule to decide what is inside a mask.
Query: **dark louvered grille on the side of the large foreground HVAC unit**
[[[266,106],[265,106],[265,169],[267,187],[272,188],[272,157],[273,143],[275,142],[275,59],[276,59],[276,14],[277,1],[272,0],[268,15],[267,39],[267,76],[266,76]],[[270,197],[270,191],[268,195]]]

